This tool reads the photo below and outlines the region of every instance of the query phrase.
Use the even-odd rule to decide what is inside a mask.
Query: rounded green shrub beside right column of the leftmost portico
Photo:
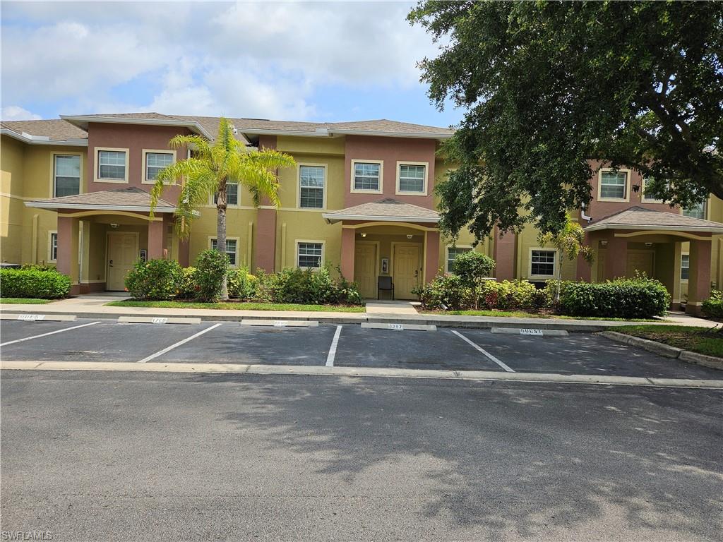
[[[126,290],[136,299],[168,301],[179,293],[183,271],[174,259],[138,260],[126,275]]]

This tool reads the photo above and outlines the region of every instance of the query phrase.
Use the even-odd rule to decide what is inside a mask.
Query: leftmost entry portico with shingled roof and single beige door
[[[149,259],[163,258],[174,246],[174,205],[159,199],[151,217],[150,194],[135,187],[25,205],[58,213],[51,259],[55,256],[57,269],[71,278],[73,295],[123,290],[124,277],[142,251]],[[179,262],[187,264],[187,245],[181,243],[177,250]]]

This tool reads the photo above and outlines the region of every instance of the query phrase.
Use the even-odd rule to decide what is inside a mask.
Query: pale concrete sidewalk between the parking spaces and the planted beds
[[[110,294],[97,296],[78,296],[76,298],[54,301],[47,305],[0,304],[0,311],[12,314],[74,314],[79,318],[118,318],[121,316],[143,317],[185,317],[201,318],[211,321],[240,321],[241,319],[273,320],[317,320],[322,324],[361,324],[361,322],[388,324],[427,324],[437,327],[466,327],[486,329],[490,327],[523,327],[541,330],[567,330],[572,332],[597,332],[612,327],[638,324],[641,322],[612,322],[607,320],[576,320],[555,318],[508,318],[454,316],[449,314],[419,314],[408,302],[403,304],[369,305],[366,313],[359,312],[317,312],[317,311],[244,311],[226,309],[161,309],[153,307],[107,306],[109,301],[119,301],[123,297]],[[402,311],[390,309],[399,306]],[[685,314],[671,315],[670,322],[685,326],[713,327],[715,322],[694,318]],[[657,322],[644,322],[657,323]]]

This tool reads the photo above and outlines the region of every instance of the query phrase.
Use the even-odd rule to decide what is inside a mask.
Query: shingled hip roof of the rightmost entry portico
[[[723,233],[723,224],[680,215],[676,212],[657,211],[636,205],[594,221],[583,228],[598,230],[674,230]]]

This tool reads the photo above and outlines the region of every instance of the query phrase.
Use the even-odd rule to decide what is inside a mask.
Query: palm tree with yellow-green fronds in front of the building
[[[218,222],[216,247],[226,254],[226,186],[228,181],[246,186],[252,193],[254,205],[267,198],[278,207],[278,171],[296,165],[294,158],[277,150],[253,150],[234,137],[234,129],[228,119],[221,117],[215,141],[197,135],[177,135],[168,145],[171,148],[189,147],[192,155],[179,160],[158,172],[151,196],[151,215],[161,199],[163,189],[177,186],[181,179],[181,194],[174,212],[176,231],[187,239],[193,220],[199,216],[196,208],[208,203],[210,195],[216,196]],[[228,299],[226,275],[223,276],[221,299]]]

